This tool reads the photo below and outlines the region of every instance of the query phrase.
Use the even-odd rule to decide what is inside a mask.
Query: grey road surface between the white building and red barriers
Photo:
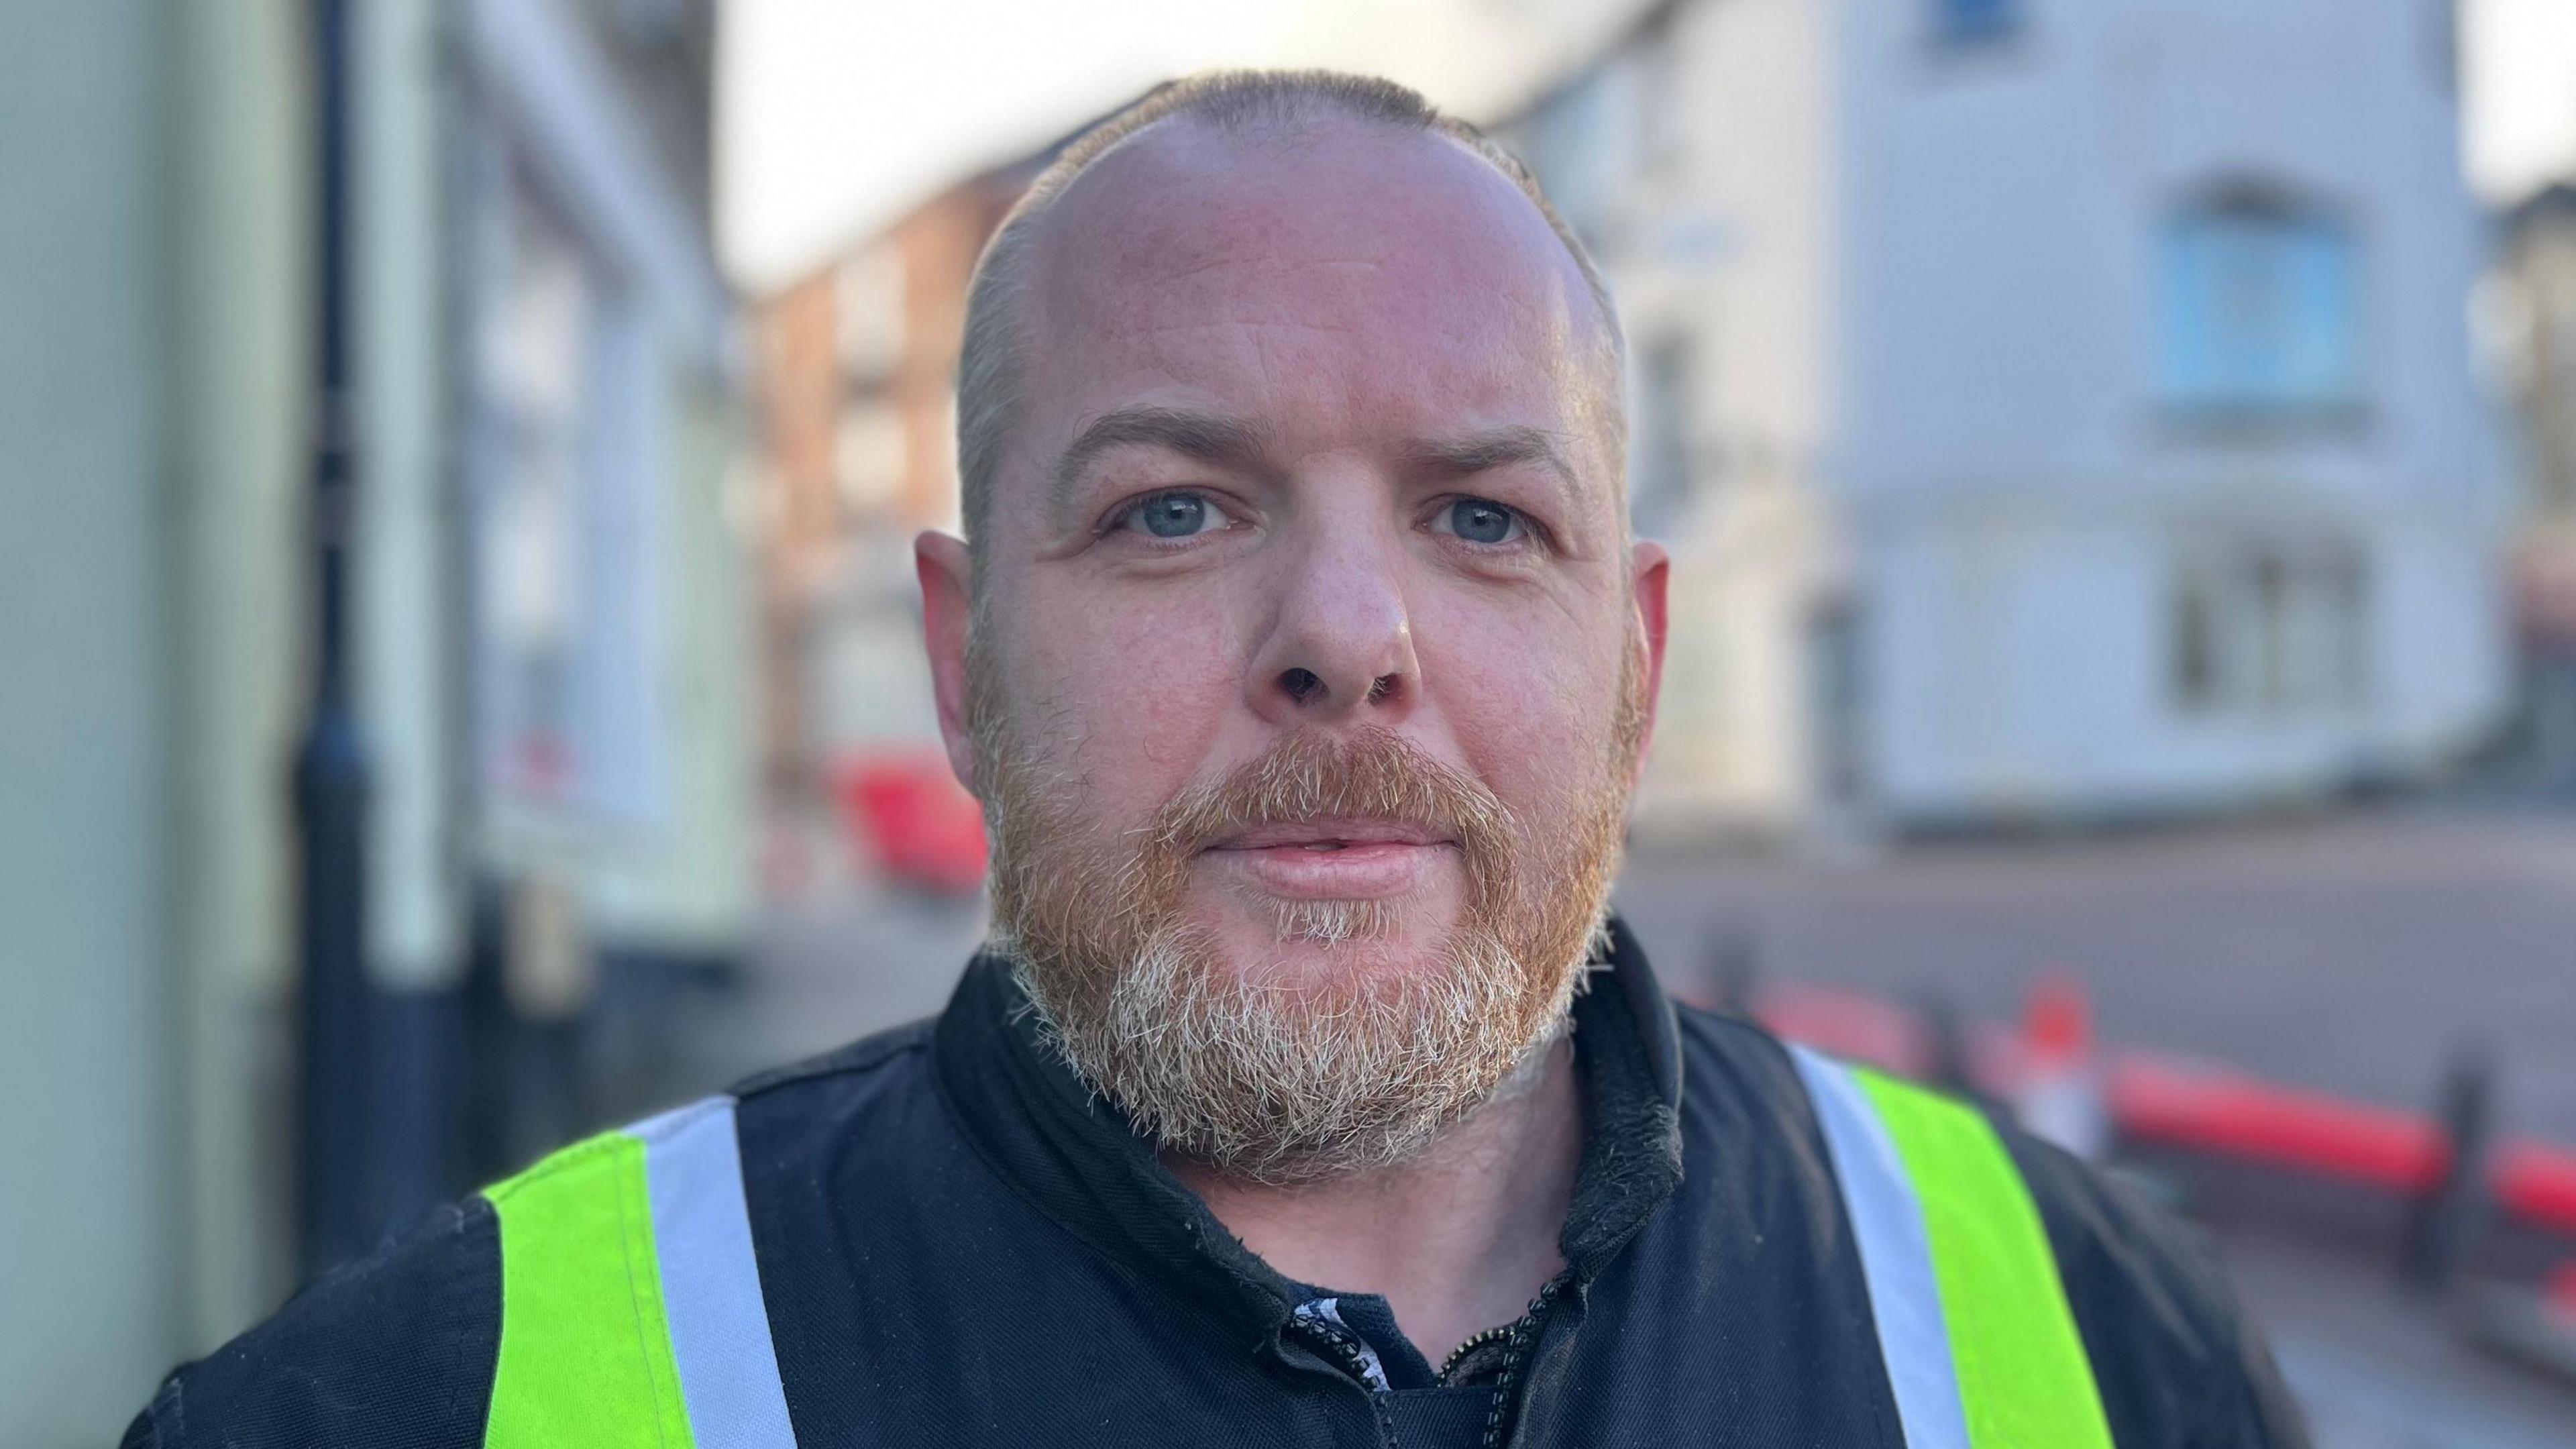
[[[2506,1132],[2576,1145],[2576,815],[2344,815],[2226,830],[1718,856],[1636,851],[1618,905],[1667,985],[1723,944],[1765,977],[2094,1024],[2403,1109],[2486,1044]]]

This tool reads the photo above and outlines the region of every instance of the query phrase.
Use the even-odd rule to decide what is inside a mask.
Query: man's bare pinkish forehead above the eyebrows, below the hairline
[[[1448,137],[1355,121],[1229,137],[1175,119],[1095,162],[1036,248],[1036,451],[1133,402],[1311,446],[1600,405],[1600,322],[1546,217]]]

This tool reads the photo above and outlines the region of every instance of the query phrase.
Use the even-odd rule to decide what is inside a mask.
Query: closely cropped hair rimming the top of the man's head
[[[1028,255],[1038,222],[1059,196],[1105,157],[1118,142],[1164,119],[1190,119],[1226,134],[1278,134],[1321,121],[1360,121],[1396,131],[1448,137],[1484,157],[1538,206],[1566,245],[1600,312],[1605,371],[1613,394],[1620,387],[1625,343],[1618,307],[1582,237],[1556,214],[1530,168],[1476,126],[1440,111],[1422,93],[1370,75],[1332,70],[1216,70],[1170,80],[1141,101],[1074,137],[1030,180],[1028,191],[994,229],[966,286],[966,338],[958,351],[958,485],[969,544],[984,531],[992,511],[994,472],[1002,464],[1002,438],[1018,407],[1025,327]],[[981,593],[981,590],[979,590]]]

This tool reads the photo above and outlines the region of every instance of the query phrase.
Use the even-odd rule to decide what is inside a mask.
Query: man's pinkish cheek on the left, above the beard
[[[1087,802],[1151,812],[1198,773],[1239,694],[1242,642],[1226,614],[1030,590],[1015,650],[1020,743]]]

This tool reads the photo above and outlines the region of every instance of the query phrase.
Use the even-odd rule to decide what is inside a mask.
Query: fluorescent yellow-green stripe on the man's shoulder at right
[[[1922,1201],[1968,1444],[2112,1449],[2048,1230],[1994,1127],[1924,1088],[1852,1078]]]

